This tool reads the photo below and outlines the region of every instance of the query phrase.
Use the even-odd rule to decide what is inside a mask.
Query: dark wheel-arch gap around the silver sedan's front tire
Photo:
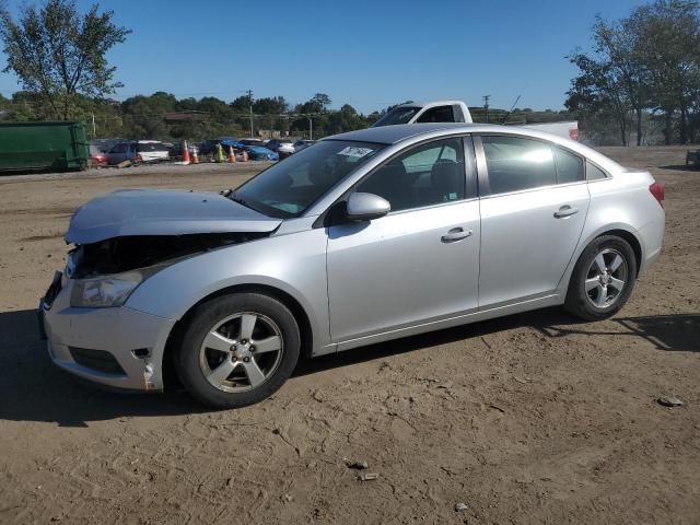
[[[284,306],[287,306],[299,324],[299,331],[301,337],[301,354],[304,358],[310,358],[312,355],[312,350],[314,348],[314,336],[311,319],[304,307],[293,295],[269,284],[233,284],[217,290],[197,301],[187,310],[187,312],[185,312],[185,314],[175,323],[175,325],[173,325],[173,328],[171,329],[171,332],[167,337],[162,358],[164,388],[179,383],[177,374],[175,372],[173,355],[175,352],[175,348],[180,340],[183,331],[187,327],[195,308],[197,308],[197,306],[199,306],[200,304],[206,303],[207,301],[232,293],[259,293],[273,298]]]

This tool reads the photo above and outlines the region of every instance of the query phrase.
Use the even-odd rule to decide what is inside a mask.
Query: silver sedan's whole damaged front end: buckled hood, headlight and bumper
[[[65,271],[39,302],[50,358],[106,387],[162,390],[177,319],[129,307],[129,298],[166,268],[268,237],[280,223],[218,194],[121,190],[93,199],[71,218]]]

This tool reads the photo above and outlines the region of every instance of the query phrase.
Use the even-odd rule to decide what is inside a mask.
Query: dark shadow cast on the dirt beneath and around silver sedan
[[[532,326],[547,337],[575,334],[642,337],[666,351],[700,351],[700,314],[615,319],[622,331],[600,331],[557,308],[458,326],[303,360],[298,377],[384,359],[511,328]],[[86,427],[89,421],[122,417],[172,416],[210,411],[182,390],[163,396],[116,394],[84,384],[56,368],[39,339],[36,311],[0,313],[0,420],[56,422]]]

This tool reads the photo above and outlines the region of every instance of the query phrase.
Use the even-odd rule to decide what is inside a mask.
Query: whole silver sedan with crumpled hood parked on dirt
[[[329,137],[235,190],[80,208],[40,302],[55,363],[103,385],[259,401],[315,357],[545,306],[604,319],[661,252],[663,186],[534,130]]]

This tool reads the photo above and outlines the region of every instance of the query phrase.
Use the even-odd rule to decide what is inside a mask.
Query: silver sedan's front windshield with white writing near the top
[[[368,142],[317,142],[261,172],[230,197],[267,215],[299,217],[383,148]]]

